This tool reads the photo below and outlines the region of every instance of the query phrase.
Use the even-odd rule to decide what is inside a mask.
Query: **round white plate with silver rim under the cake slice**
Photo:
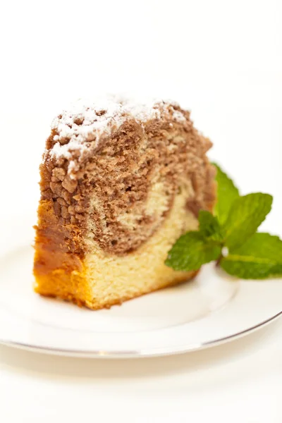
[[[213,265],[204,266],[195,281],[109,310],[42,298],[32,290],[30,227],[18,222],[18,247],[7,245],[11,236],[0,245],[1,343],[80,357],[168,355],[243,336],[282,314],[281,279],[240,281]],[[30,244],[20,243],[24,232]]]

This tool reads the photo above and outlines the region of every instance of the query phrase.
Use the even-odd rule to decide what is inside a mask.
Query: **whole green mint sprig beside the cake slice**
[[[192,271],[216,260],[224,271],[240,278],[282,276],[282,240],[257,233],[271,210],[273,198],[262,192],[240,196],[231,178],[215,166],[218,185],[215,216],[201,210],[199,231],[185,233],[176,241],[168,252],[166,265]],[[228,255],[223,255],[225,250]]]

